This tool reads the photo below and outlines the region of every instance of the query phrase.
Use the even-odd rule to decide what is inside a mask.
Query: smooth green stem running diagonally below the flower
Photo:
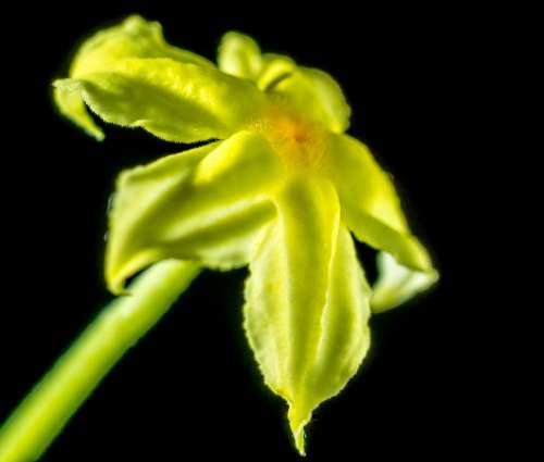
[[[158,263],[131,286],[129,296],[110,303],[0,429],[0,461],[37,460],[106,374],[198,273],[193,263]]]

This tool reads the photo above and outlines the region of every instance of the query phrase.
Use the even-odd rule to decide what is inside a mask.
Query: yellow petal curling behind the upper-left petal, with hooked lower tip
[[[134,15],[120,25],[100,30],[88,38],[77,51],[69,76],[78,78],[86,74],[108,72],[126,58],[170,58],[213,67],[213,63],[205,58],[166,43],[159,23]],[[57,87],[54,99],[63,115],[95,138],[103,138],[102,130],[88,114],[77,92],[64,91],[62,87]]]

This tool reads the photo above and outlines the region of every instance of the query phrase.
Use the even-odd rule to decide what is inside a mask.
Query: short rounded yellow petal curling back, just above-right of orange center
[[[326,72],[299,66],[274,85],[271,92],[333,133],[339,134],[349,127],[351,110],[341,87]]]

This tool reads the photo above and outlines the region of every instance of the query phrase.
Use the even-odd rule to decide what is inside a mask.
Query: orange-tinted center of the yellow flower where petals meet
[[[280,105],[252,124],[252,129],[268,139],[287,167],[306,172],[321,167],[326,151],[326,132],[321,124]]]

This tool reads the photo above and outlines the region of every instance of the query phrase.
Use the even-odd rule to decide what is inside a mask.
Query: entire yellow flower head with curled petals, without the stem
[[[370,345],[372,312],[437,279],[391,177],[345,132],[350,109],[325,72],[261,53],[227,33],[219,66],[168,45],[132,16],[88,39],[61,111],[98,139],[102,120],[198,148],[123,172],[110,213],[106,278],[120,294],[166,259],[249,265],[245,330],[267,385],[289,407],[296,446],[312,411],[337,395]],[[353,235],[379,252],[369,287]]]

